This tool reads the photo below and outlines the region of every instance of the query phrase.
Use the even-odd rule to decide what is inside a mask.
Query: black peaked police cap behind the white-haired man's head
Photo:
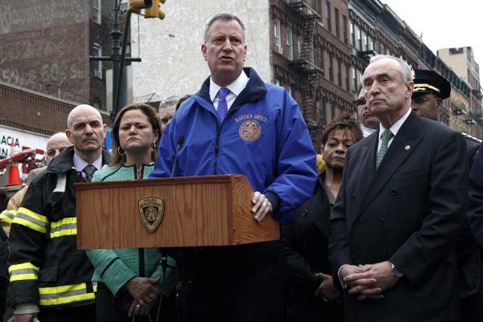
[[[433,70],[414,70],[413,94],[433,93],[442,99],[447,99],[451,93],[451,84]]]

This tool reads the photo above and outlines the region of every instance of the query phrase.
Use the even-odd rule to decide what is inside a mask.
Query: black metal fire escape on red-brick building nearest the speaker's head
[[[290,1],[288,8],[296,12],[302,20],[302,54],[299,59],[292,63],[304,77],[304,91],[302,95],[302,114],[307,123],[308,130],[315,147],[322,143],[322,117],[317,108],[316,97],[319,78],[323,77],[324,71],[314,63],[314,37],[317,32],[317,21],[319,14],[307,5],[306,1]]]

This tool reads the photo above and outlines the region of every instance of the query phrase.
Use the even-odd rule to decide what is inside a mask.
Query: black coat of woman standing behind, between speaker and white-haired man
[[[282,225],[287,256],[287,322],[342,321],[342,305],[315,296],[322,279],[317,273],[330,274],[328,265],[328,223],[331,203],[324,190],[325,172],[317,177],[313,196],[295,211],[292,223]]]

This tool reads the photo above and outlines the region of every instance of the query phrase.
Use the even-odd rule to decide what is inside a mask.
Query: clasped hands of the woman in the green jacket
[[[152,306],[159,298],[159,290],[154,285],[161,277],[150,279],[148,277],[135,277],[126,283],[126,289],[134,298],[129,308],[128,316],[148,315]],[[139,306],[137,306],[139,305]]]

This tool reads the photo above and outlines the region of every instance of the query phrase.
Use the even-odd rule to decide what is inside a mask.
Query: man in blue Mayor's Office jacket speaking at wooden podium
[[[151,177],[244,174],[253,216],[286,222],[312,193],[315,151],[297,103],[244,68],[244,23],[217,14],[201,52],[211,76],[164,131]],[[284,321],[285,255],[280,241],[179,252],[179,321]]]

